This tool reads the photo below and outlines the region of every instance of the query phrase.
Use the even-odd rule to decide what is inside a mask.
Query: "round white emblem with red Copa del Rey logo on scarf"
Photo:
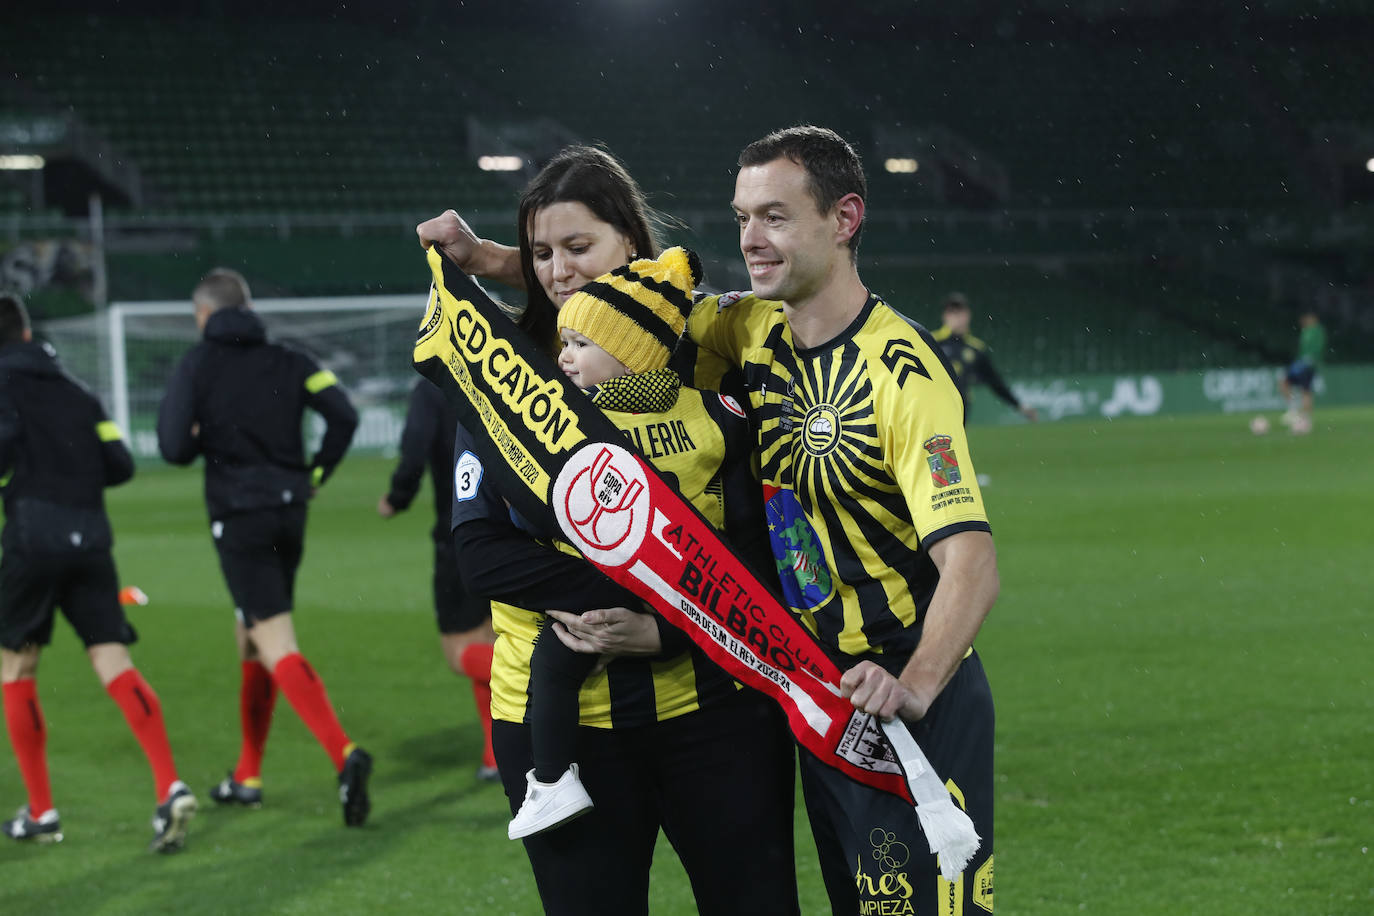
[[[589,559],[622,566],[649,531],[649,482],[625,449],[596,444],[584,448],[554,482],[554,512],[573,544]]]

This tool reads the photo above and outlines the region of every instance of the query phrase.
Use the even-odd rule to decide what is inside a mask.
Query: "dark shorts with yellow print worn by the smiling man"
[[[977,654],[959,665],[926,717],[911,726],[982,838],[954,883],[940,876],[915,808],[798,751],[807,813],[834,913],[992,912],[992,691]]]

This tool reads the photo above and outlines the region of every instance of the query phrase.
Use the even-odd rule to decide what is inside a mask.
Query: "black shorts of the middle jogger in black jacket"
[[[239,512],[210,523],[220,569],[245,626],[290,611],[305,552],[305,507]]]

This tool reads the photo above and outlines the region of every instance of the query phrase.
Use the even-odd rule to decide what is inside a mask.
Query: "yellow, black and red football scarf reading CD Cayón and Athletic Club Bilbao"
[[[415,368],[458,408],[511,504],[530,520],[555,519],[606,575],[774,698],[818,758],[915,803],[908,776],[922,773],[903,764],[922,764],[899,758],[885,729],[899,744],[910,732],[855,710],[840,669],[716,530],[471,277],[434,249],[429,264]]]

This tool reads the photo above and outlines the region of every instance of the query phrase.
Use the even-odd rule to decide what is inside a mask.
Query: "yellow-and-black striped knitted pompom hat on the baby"
[[[569,298],[558,327],[577,331],[631,372],[661,369],[687,327],[701,279],[701,258],[688,249],[631,261]]]

